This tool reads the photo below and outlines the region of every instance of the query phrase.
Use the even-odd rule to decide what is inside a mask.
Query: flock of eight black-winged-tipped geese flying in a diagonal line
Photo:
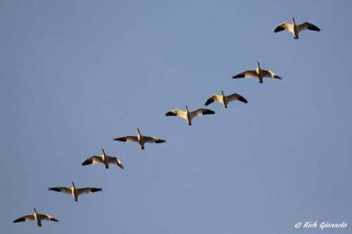
[[[275,28],[274,32],[287,30],[294,35],[294,39],[298,39],[298,34],[303,30],[313,30],[318,32],[320,31],[320,29],[317,26],[311,24],[310,22],[304,22],[301,25],[296,25],[294,18],[292,18],[292,20],[293,20],[292,24],[289,24],[288,22],[282,22],[282,24],[280,24]],[[256,70],[247,70],[237,75],[234,75],[232,78],[237,79],[237,78],[249,78],[249,77],[258,77],[260,84],[263,83],[264,77],[271,77],[273,79],[282,79],[282,77],[279,77],[277,74],[275,74],[275,72],[272,72],[270,70],[263,70],[260,67],[259,62],[257,62]],[[222,105],[224,105],[225,108],[227,108],[228,103],[234,100],[239,100],[243,103],[248,103],[246,98],[239,95],[238,93],[233,93],[229,96],[225,96],[224,92],[221,91],[221,95],[213,94],[212,96],[210,96],[210,98],[208,98],[208,100],[206,101],[205,105],[209,105],[214,101],[218,101],[222,103]],[[186,105],[185,111],[175,109],[165,113],[166,116],[178,116],[178,117],[181,117],[182,119],[185,119],[187,124],[189,124],[189,126],[191,126],[191,121],[194,117],[198,117],[201,115],[213,115],[213,114],[215,114],[213,110],[204,109],[204,108],[199,108],[194,111],[189,111],[187,105]],[[137,136],[123,136],[123,137],[113,138],[113,140],[138,143],[141,150],[144,150],[145,143],[165,143],[166,142],[165,139],[160,139],[153,136],[143,136],[139,129],[137,129]],[[92,157],[89,157],[87,160],[82,162],[82,166],[86,166],[89,164],[104,164],[106,169],[109,168],[109,164],[117,164],[118,167],[120,167],[121,169],[124,169],[121,160],[118,159],[117,157],[111,157],[106,155],[106,152],[104,149],[102,149],[101,155],[93,155]],[[79,195],[82,195],[84,193],[99,192],[99,191],[102,191],[102,188],[76,188],[75,183],[72,182],[71,188],[53,187],[53,188],[49,188],[49,190],[56,191],[59,193],[71,194],[73,196],[73,200],[77,202]],[[27,214],[18,219],[15,219],[13,222],[18,223],[23,221],[36,221],[37,225],[40,227],[42,226],[42,220],[58,222],[58,219],[55,219],[53,216],[50,216],[49,214],[37,213],[37,210],[35,208],[34,208],[34,214]]]

